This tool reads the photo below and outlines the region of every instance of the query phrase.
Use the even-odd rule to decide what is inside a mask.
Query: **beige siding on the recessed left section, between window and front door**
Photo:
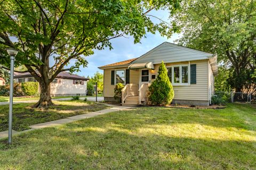
[[[111,71],[118,69],[127,69],[128,67],[117,67],[115,69],[105,69],[104,70],[104,97],[114,97],[115,85],[111,85]],[[139,84],[139,69],[130,70],[130,83]]]

